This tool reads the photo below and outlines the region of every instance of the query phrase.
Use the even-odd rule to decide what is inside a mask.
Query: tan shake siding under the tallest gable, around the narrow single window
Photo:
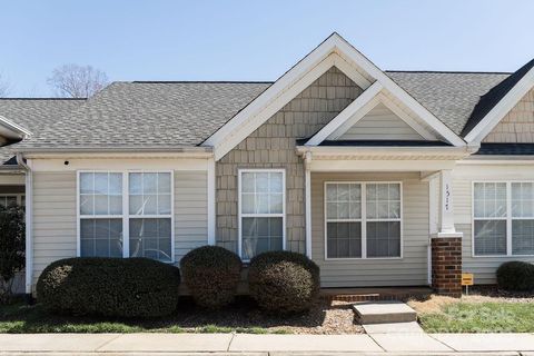
[[[295,141],[316,134],[362,91],[333,67],[217,162],[217,245],[237,251],[238,169],[283,168],[286,248],[306,251],[304,164],[296,155]]]

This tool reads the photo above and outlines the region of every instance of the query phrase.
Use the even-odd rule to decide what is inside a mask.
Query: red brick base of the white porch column
[[[432,287],[439,295],[462,296],[462,238],[432,238]]]

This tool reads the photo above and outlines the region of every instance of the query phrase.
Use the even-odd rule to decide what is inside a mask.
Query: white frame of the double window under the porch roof
[[[362,190],[362,216],[359,219],[346,219],[348,222],[359,221],[362,222],[362,257],[328,257],[328,230],[327,230],[327,210],[326,210],[326,188],[328,185],[338,185],[338,184],[352,184],[352,185],[360,185]],[[398,219],[368,219],[367,218],[367,185],[380,185],[380,184],[388,184],[388,185],[399,185],[400,194],[400,214]],[[324,191],[323,191],[323,209],[324,209],[324,258],[325,260],[363,260],[363,259],[403,259],[404,258],[404,196],[403,196],[403,182],[402,181],[354,181],[354,180],[328,180],[324,182]],[[343,222],[342,220],[336,219],[337,222]],[[399,221],[400,222],[400,254],[399,256],[392,256],[392,257],[367,257],[367,222],[387,222],[387,221]]]

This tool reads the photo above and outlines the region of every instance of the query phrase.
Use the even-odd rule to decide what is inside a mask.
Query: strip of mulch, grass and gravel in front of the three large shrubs
[[[247,333],[247,334],[359,334],[348,304],[318,303],[309,313],[267,315],[248,303],[220,310],[180,304],[175,315],[154,319],[109,319],[58,316],[40,305],[0,305],[0,334],[12,333]]]

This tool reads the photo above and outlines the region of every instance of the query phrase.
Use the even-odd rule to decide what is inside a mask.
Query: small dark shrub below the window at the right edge
[[[497,284],[506,290],[533,290],[534,265],[518,260],[502,264],[497,269]]]

